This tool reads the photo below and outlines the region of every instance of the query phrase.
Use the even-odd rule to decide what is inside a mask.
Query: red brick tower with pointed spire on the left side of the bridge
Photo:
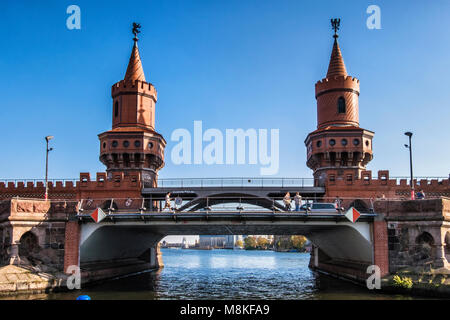
[[[112,130],[99,134],[100,161],[108,179],[114,171],[140,173],[145,184],[156,185],[164,166],[166,141],[155,131],[155,87],[145,80],[137,46],[140,25],[133,24],[134,45],[125,78],[112,86]]]

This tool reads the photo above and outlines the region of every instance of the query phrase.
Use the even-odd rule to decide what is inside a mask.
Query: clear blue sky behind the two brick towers
[[[81,30],[66,8],[81,8]],[[381,8],[381,30],[366,8]],[[156,129],[167,142],[160,177],[258,176],[259,166],[176,166],[177,128],[280,129],[278,176],[310,177],[304,139],[316,127],[314,84],[326,74],[342,19],[347,71],[361,81],[360,125],[375,131],[374,172],[450,172],[450,1],[1,1],[0,178],[103,171],[97,134],[111,127],[110,88],[123,79],[140,22],[147,81],[158,90]]]

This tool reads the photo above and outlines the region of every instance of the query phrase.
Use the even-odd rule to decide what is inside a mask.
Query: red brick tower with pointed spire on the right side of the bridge
[[[316,83],[317,130],[305,140],[315,185],[327,180],[352,181],[372,160],[373,132],[359,127],[359,80],[347,75],[337,41],[338,19],[332,20],[334,44],[326,78]]]

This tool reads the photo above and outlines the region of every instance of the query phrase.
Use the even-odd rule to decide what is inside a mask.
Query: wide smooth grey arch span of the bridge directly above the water
[[[249,213],[248,216],[252,214]],[[304,235],[332,262],[373,264],[371,225],[367,222],[336,221],[171,221],[105,222],[82,225],[80,238],[81,266],[101,261],[145,260],[145,253],[156,248],[168,235],[274,234]],[[192,216],[186,213],[184,216]],[[192,220],[191,220],[192,221]],[[142,258],[144,257],[144,258]],[[148,260],[148,259],[147,259]]]

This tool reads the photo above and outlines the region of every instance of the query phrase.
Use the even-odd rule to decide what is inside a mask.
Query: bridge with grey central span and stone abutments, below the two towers
[[[272,234],[306,236],[313,243],[312,269],[357,281],[367,278],[373,264],[382,275],[425,262],[448,266],[450,200],[342,197],[347,208],[359,205],[362,211],[352,223],[342,211],[286,211],[286,192],[299,192],[303,203],[334,200],[306,180],[189,180],[144,186],[136,198],[0,201],[0,262],[41,261],[64,271],[79,266],[83,281],[90,282],[161,267],[158,243],[168,235]],[[182,196],[177,209],[163,209],[167,192]],[[90,217],[96,208],[107,213],[99,223]],[[405,229],[411,231],[401,240],[407,251],[401,251]]]

